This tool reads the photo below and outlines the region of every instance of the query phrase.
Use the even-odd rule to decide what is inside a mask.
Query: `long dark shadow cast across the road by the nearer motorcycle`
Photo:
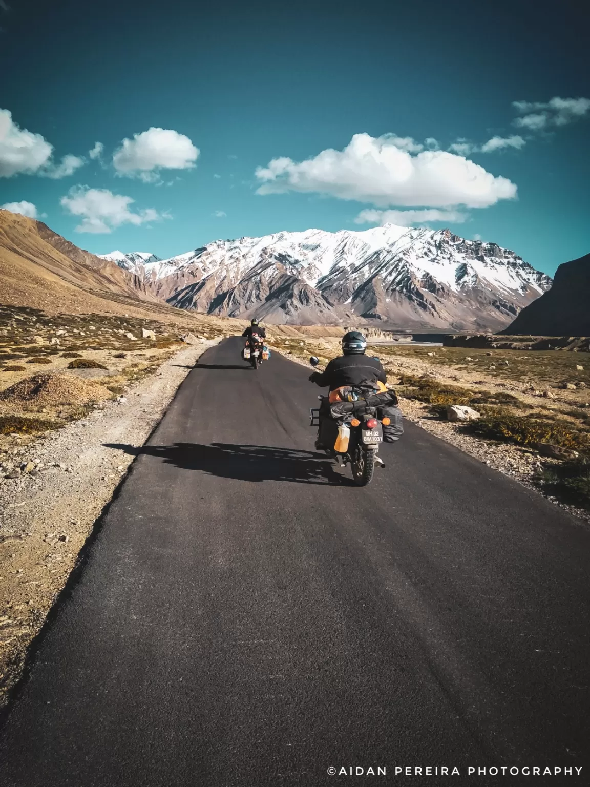
[[[200,470],[219,478],[240,481],[289,481],[324,486],[352,486],[352,479],[339,475],[334,462],[324,454],[274,448],[269,445],[232,445],[231,443],[175,443],[174,445],[135,445],[105,443],[132,456],[157,456],[183,470]]]

